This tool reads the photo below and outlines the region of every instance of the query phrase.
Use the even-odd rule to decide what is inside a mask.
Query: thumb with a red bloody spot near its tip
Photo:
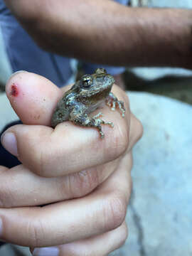
[[[41,75],[20,71],[6,83],[6,95],[23,124],[50,125],[62,91]]]

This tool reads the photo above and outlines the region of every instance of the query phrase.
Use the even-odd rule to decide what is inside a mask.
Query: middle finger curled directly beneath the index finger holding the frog
[[[119,161],[55,178],[33,174],[22,164],[12,169],[0,167],[0,206],[39,206],[85,196],[117,169]]]

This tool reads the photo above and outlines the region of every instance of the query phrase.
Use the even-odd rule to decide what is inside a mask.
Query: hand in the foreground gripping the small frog
[[[23,124],[9,128],[1,141],[23,164],[0,168],[2,240],[32,248],[59,245],[49,248],[52,256],[58,250],[107,255],[122,245],[131,151],[142,126],[125,93],[116,86],[113,91],[124,101],[126,115],[105,107],[114,129],[103,127],[105,139],[100,139],[96,129],[71,122],[48,127],[63,92],[46,78],[23,72],[9,80],[6,93]]]

